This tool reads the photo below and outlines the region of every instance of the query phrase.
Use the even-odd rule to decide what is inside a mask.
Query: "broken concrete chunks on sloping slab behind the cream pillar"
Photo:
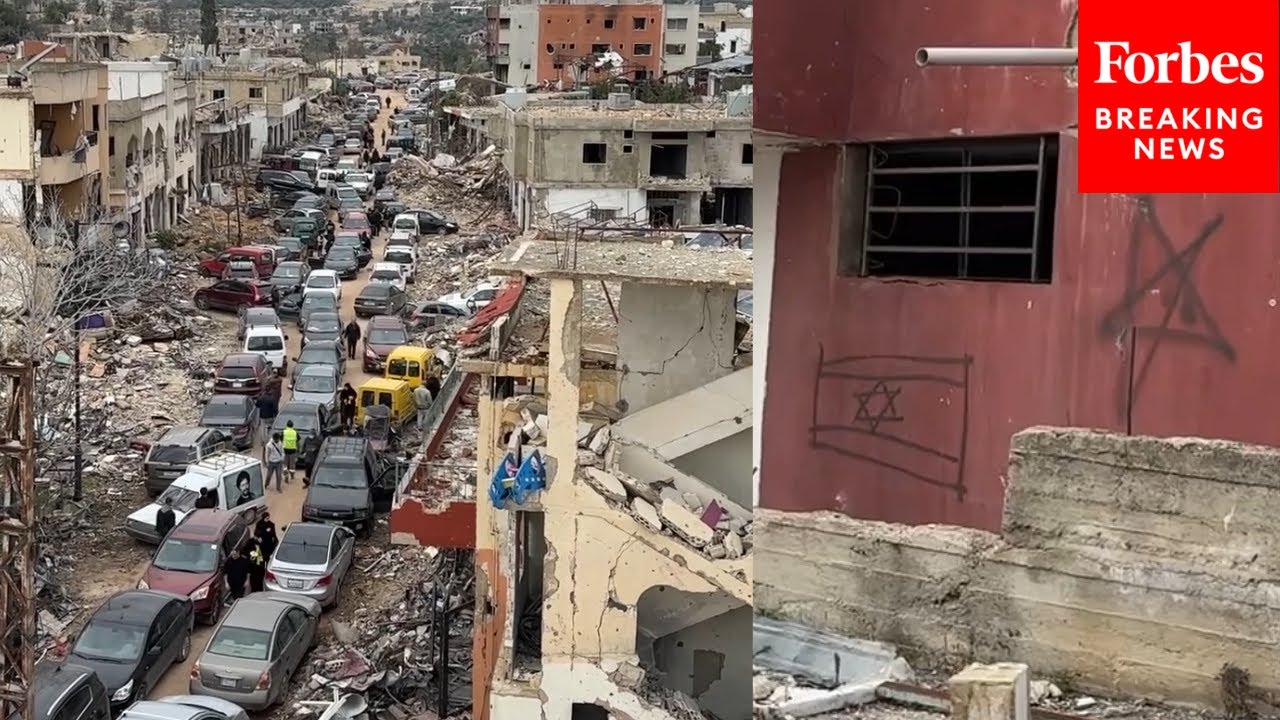
[[[524,432],[527,446],[547,445],[545,400],[532,395],[512,397],[503,415],[503,425]],[[588,486],[649,529],[675,536],[712,560],[737,560],[751,552],[750,515],[735,516],[736,510],[721,501],[682,491],[671,479],[652,483],[608,468],[607,456],[616,445],[612,421],[620,419],[618,413],[593,402],[581,409],[581,416],[577,466],[579,478]]]

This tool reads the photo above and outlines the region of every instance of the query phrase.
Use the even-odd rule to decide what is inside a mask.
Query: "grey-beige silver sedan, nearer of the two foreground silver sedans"
[[[315,644],[320,612],[319,602],[301,594],[256,592],[237,600],[191,669],[191,694],[251,711],[280,702]]]

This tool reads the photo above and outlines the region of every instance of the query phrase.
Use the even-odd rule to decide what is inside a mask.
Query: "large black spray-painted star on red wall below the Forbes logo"
[[[1103,338],[1128,340],[1133,347],[1130,366],[1125,368],[1128,378],[1117,383],[1117,404],[1125,416],[1132,415],[1133,402],[1139,397],[1152,361],[1162,346],[1201,347],[1230,363],[1235,361],[1235,347],[1222,333],[1221,325],[1196,284],[1196,264],[1225,220],[1221,213],[1213,215],[1201,225],[1199,232],[1187,245],[1179,249],[1160,222],[1155,199],[1138,197],[1137,218],[1129,238],[1125,292],[1103,314],[1098,324],[1098,332]],[[1161,258],[1148,273],[1143,273],[1140,266],[1144,236],[1151,236]],[[1138,319],[1138,310],[1157,288],[1164,314],[1158,323],[1144,324]],[[1140,359],[1138,341],[1143,341]]]

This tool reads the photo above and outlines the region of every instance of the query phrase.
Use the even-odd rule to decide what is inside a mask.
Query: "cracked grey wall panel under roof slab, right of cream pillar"
[[[622,283],[618,368],[635,413],[733,372],[737,291]]]

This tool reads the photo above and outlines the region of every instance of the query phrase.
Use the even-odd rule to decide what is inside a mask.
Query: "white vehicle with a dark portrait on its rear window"
[[[210,455],[188,465],[187,471],[178,475],[155,502],[134,510],[124,521],[124,532],[142,542],[159,544],[164,539],[156,533],[160,506],[172,501],[174,519],[182,523],[196,509],[201,489],[216,495],[218,510],[239,512],[253,525],[266,510],[262,480],[262,464],[256,457],[238,452]]]

